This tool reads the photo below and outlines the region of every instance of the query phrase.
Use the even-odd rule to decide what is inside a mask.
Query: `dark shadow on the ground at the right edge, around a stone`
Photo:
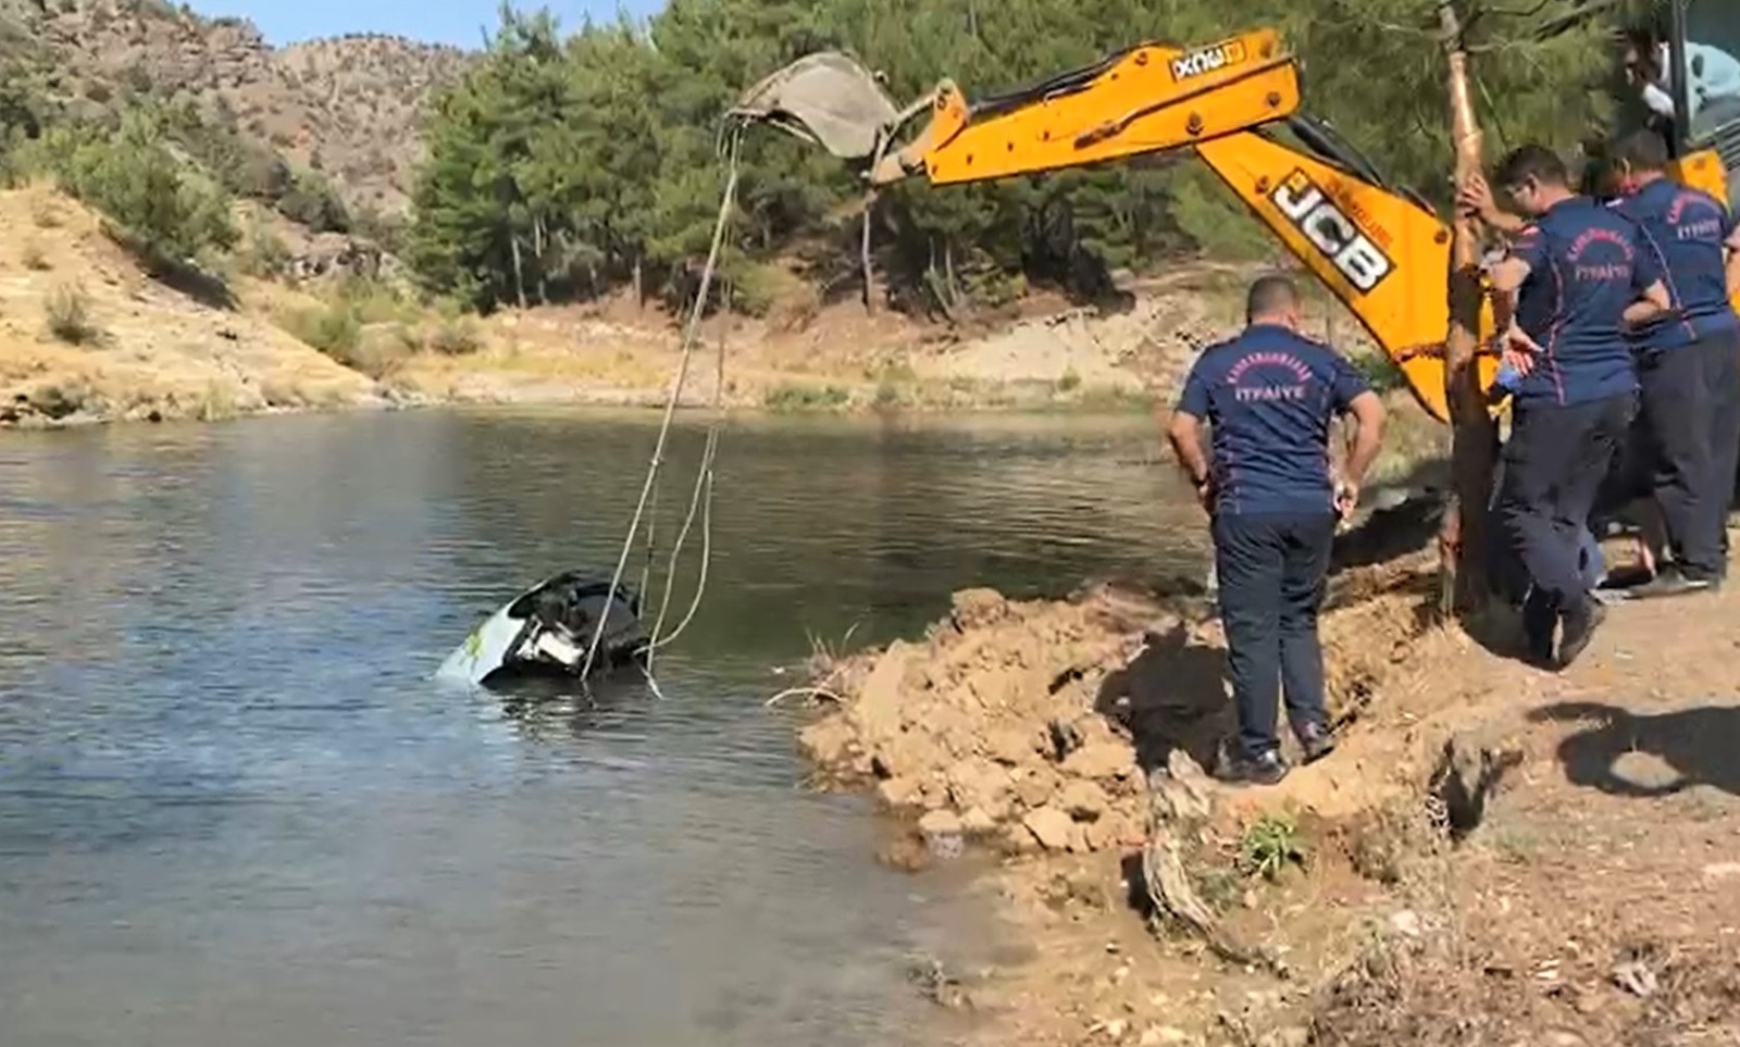
[[[1740,706],[1696,706],[1641,715],[1596,701],[1557,703],[1529,713],[1536,724],[1596,720],[1559,743],[1559,764],[1578,786],[1615,797],[1669,797],[1696,786],[1740,797]],[[1616,770],[1627,753],[1648,753],[1672,767],[1677,781],[1637,783]]]

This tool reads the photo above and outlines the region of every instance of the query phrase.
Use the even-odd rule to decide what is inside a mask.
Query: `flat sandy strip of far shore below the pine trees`
[[[1020,313],[948,330],[856,303],[774,308],[703,325],[684,402],[752,410],[1141,409],[1194,350],[1237,323],[1235,277],[1192,268],[1115,310],[1035,296]],[[661,405],[680,329],[612,299],[494,317],[484,348],[397,367],[400,390],[458,402]],[[726,363],[719,367],[720,341]],[[724,381],[722,390],[720,379]]]

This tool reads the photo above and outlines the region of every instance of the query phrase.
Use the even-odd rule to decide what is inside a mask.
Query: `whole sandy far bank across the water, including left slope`
[[[680,329],[626,299],[440,317],[332,278],[249,277],[282,219],[242,209],[224,280],[151,278],[101,219],[52,186],[0,191],[0,426],[218,419],[393,403],[663,405]],[[264,242],[264,240],[261,240]],[[252,259],[252,261],[249,261]],[[1239,323],[1248,268],[1192,264],[1134,282],[1110,310],[1035,294],[973,329],[856,303],[793,280],[759,318],[708,320],[686,402],[736,410],[1140,410],[1197,346]],[[1315,290],[1315,289],[1314,289]],[[1315,332],[1355,325],[1324,296]],[[715,369],[724,339],[727,363]],[[1423,417],[1423,428],[1437,430]]]

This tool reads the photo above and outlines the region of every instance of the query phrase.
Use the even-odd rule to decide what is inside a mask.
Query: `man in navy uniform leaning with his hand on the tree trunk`
[[[1491,268],[1512,395],[1498,517],[1533,583],[1522,605],[1529,656],[1569,666],[1606,617],[1578,570],[1596,494],[1637,412],[1637,369],[1625,330],[1669,310],[1660,257],[1636,223],[1571,191],[1564,162],[1526,144],[1495,181],[1526,223]],[[1484,183],[1463,207],[1484,210]]]

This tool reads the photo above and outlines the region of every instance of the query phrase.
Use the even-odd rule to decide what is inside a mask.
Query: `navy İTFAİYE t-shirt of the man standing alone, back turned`
[[[1281,325],[1209,346],[1178,410],[1213,426],[1220,513],[1329,513],[1329,421],[1368,391],[1352,363]]]

